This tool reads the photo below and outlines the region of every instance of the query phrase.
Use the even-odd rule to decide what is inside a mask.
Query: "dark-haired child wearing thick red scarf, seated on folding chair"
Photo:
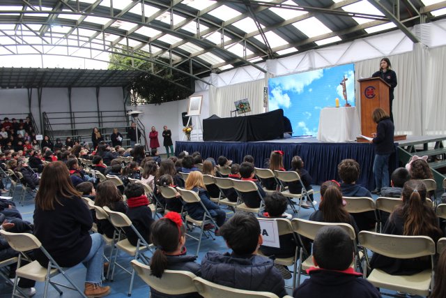
[[[124,194],[127,197],[127,216],[132,221],[134,228],[146,240],[148,244],[151,243],[151,225],[154,222],[152,218],[152,211],[148,207],[148,198],[144,195],[144,186],[140,183],[130,183],[125,187]],[[124,229],[130,244],[137,246],[138,237],[132,228]]]

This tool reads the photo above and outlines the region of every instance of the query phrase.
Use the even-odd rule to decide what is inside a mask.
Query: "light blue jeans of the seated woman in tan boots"
[[[102,270],[103,270],[103,255],[105,241],[102,239],[102,235],[94,233],[91,237],[91,249],[89,255],[82,261],[82,264],[86,267],[86,283],[101,283],[102,282]]]

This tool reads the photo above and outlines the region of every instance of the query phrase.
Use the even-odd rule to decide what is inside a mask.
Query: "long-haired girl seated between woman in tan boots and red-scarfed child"
[[[80,184],[79,184],[80,185]],[[98,184],[96,187],[95,205],[99,207],[109,207],[110,210],[127,213],[127,205],[123,200],[121,192],[118,191],[116,184],[112,181],[106,180]],[[98,221],[98,232],[105,234],[109,238],[113,238],[115,231],[114,226],[108,219],[101,219]]]

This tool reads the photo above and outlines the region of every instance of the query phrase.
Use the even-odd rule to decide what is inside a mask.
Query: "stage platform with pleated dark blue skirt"
[[[436,136],[409,136],[407,140],[395,143],[395,153],[390,156],[390,172],[399,167],[400,145],[423,144],[436,142],[438,138],[446,135]],[[291,139],[270,140],[261,142],[203,142],[187,141],[176,142],[175,154],[187,151],[190,154],[199,151],[203,158],[213,157],[217,161],[218,156],[226,156],[234,163],[241,163],[243,156],[250,154],[255,158],[256,167],[263,167],[266,158],[271,151],[284,151],[284,166],[290,168],[291,158],[298,155],[304,161],[304,167],[313,178],[313,184],[321,185],[324,181],[335,179],[339,181],[337,165],[345,158],[353,158],[360,163],[361,174],[357,183],[367,187],[370,191],[374,189],[374,145],[370,143],[323,143],[316,137],[292,137]]]

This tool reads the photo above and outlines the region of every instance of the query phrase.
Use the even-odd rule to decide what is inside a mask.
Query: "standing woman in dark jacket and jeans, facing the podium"
[[[394,152],[393,136],[395,128],[389,115],[380,107],[374,110],[372,118],[377,126],[376,133],[372,134],[374,138],[371,140],[375,144],[376,152],[373,169],[376,188],[371,193],[379,195],[382,187],[390,185],[389,158],[390,154]]]

